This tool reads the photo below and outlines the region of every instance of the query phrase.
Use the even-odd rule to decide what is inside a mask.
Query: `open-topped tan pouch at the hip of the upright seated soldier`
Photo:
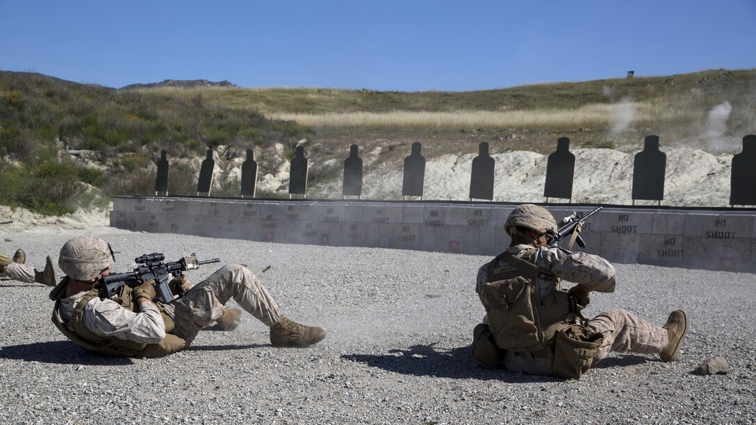
[[[556,333],[553,373],[558,377],[579,379],[593,364],[593,356],[603,343],[601,333],[571,324]]]

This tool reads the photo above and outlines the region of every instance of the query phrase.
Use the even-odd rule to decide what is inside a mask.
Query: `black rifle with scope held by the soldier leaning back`
[[[138,265],[134,271],[103,276],[104,297],[110,299],[110,293],[123,285],[135,287],[144,284],[146,281],[155,281],[154,287],[157,292],[155,299],[166,303],[171,302],[173,301],[173,293],[169,285],[170,277],[181,276],[187,270],[197,270],[201,264],[221,261],[221,259],[217,258],[198,261],[194,253],[191,256],[183,257],[173,262],[163,262],[165,258],[166,256],[161,253],[144,254],[134,259],[134,262]],[[183,295],[184,291],[179,288],[178,296],[181,297]]]

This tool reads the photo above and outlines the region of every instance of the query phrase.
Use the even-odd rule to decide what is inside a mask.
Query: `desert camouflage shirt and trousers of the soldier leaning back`
[[[85,293],[60,300],[60,317],[68,321]],[[191,344],[203,327],[223,315],[223,305],[233,298],[239,306],[273,326],[280,318],[279,308],[252,271],[242,265],[225,265],[205,281],[188,290],[180,299],[164,304],[163,310],[175,322],[172,334]],[[157,343],[166,336],[165,324],[152,302],[141,302],[135,313],[110,299],[95,297],[84,309],[85,327],[100,337],[115,337],[138,343]]]

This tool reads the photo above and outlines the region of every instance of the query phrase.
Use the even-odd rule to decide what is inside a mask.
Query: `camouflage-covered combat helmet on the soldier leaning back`
[[[91,281],[101,271],[113,265],[113,250],[110,244],[96,236],[77,236],[60,248],[57,265],[70,278]]]

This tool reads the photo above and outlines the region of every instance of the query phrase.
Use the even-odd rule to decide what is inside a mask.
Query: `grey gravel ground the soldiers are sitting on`
[[[116,271],[156,251],[248,265],[284,314],[327,327],[328,337],[308,349],[273,348],[245,315],[238,330],[210,327],[165,358],[101,358],[51,324],[48,287],[2,281],[0,423],[756,422],[751,274],[617,265],[618,290],[594,294],[587,315],[623,308],[663,324],[684,309],[691,325],[680,361],[615,354],[581,380],[561,380],[487,371],[472,359],[484,256],[84,232],[120,251]],[[21,247],[41,266],[73,234],[6,231],[0,252]],[[727,358],[729,374],[689,373],[714,355]]]

